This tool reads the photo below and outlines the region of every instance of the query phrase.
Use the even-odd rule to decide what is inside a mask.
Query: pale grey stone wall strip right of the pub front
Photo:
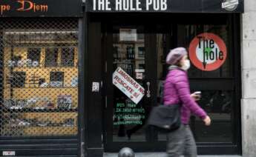
[[[256,1],[245,0],[242,16],[242,145],[243,156],[256,156]]]

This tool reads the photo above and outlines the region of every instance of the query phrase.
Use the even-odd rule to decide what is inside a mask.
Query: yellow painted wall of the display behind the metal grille
[[[71,80],[74,76],[78,76],[78,50],[75,47],[74,67],[45,67],[45,49],[41,48],[40,67],[13,67],[13,72],[22,71],[26,73],[25,87],[13,88],[13,99],[29,99],[35,97],[47,97],[57,108],[57,98],[60,95],[72,96],[72,108],[77,108],[78,105],[78,88],[71,87]],[[47,47],[48,48],[48,47]],[[61,48],[59,47],[58,65],[60,65]],[[10,84],[7,84],[7,76],[10,75],[11,68],[8,67],[8,61],[11,59],[10,47],[4,48],[4,99],[10,97]],[[13,56],[22,56],[22,60],[27,59],[27,47],[14,47]],[[50,72],[64,72],[64,87],[39,87],[39,85],[28,84],[31,76],[39,76],[50,84]],[[38,104],[36,107],[42,107],[44,104]],[[8,113],[6,113],[8,114]],[[14,113],[12,113],[14,114]],[[19,114],[19,118],[36,118],[39,121],[62,122],[65,118],[74,118],[77,124],[77,112],[70,113],[15,113]],[[2,133],[7,133],[10,130],[19,130],[24,136],[47,136],[47,135],[76,135],[77,126],[75,127],[4,127]]]

